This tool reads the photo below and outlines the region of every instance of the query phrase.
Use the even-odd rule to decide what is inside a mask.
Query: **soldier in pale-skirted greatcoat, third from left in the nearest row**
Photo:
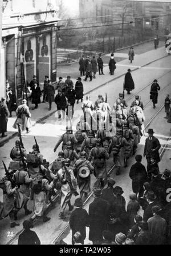
[[[57,181],[55,177],[49,184],[46,179],[46,168],[40,169],[39,175],[31,181],[31,196],[33,200],[34,215],[32,215],[30,221],[32,222],[36,216],[43,217],[43,222],[50,221],[50,217],[46,215],[47,203],[48,203],[48,191],[54,188],[54,184]]]

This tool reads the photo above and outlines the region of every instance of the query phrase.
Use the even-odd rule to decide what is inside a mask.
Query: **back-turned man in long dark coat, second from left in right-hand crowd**
[[[101,199],[101,189],[95,188],[93,197],[95,198],[89,205],[89,240],[93,245],[98,245],[103,241],[103,230],[107,229],[109,219],[109,203]]]

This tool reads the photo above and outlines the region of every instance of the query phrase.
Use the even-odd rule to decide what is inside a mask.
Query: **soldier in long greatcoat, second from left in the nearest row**
[[[17,219],[17,213],[22,207],[25,209],[25,215],[31,214],[32,211],[27,209],[27,202],[30,197],[30,182],[31,178],[29,178],[28,171],[24,166],[21,166],[19,170],[15,172],[15,182],[18,185],[17,190],[17,205],[16,210],[14,212],[14,219]]]

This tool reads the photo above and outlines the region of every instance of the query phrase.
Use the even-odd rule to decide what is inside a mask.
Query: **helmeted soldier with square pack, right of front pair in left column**
[[[39,174],[40,165],[43,165],[43,155],[39,153],[36,145],[33,145],[32,149],[32,152],[27,154],[27,166],[31,178],[35,178]]]

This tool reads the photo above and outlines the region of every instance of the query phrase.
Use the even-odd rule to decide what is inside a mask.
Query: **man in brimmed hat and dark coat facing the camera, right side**
[[[145,139],[144,157],[146,156],[147,171],[149,172],[150,158],[155,159],[157,163],[160,162],[160,155],[158,150],[160,149],[161,145],[158,139],[153,136],[153,129],[148,129],[148,134],[149,137]]]

